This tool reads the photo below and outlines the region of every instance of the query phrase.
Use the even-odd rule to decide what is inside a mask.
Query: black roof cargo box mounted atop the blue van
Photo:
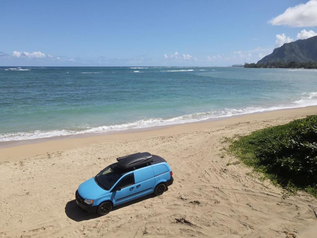
[[[121,169],[133,169],[142,165],[146,165],[153,161],[152,155],[148,152],[135,153],[117,158],[117,165]]]

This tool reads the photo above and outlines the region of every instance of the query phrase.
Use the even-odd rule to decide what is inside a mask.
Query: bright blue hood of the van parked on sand
[[[102,194],[109,193],[109,191],[100,188],[95,182],[94,177],[92,177],[79,185],[78,193],[84,199],[96,199]]]

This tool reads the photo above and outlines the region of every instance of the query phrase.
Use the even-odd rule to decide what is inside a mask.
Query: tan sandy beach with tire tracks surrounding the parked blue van
[[[259,180],[225,153],[224,137],[316,114],[317,107],[231,117],[157,130],[52,140],[0,149],[0,237],[316,237],[317,199]],[[164,157],[174,183],[87,215],[76,206],[81,182],[115,158],[148,151]]]

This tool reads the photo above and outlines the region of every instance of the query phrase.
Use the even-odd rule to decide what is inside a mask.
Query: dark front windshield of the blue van
[[[95,176],[96,183],[105,190],[110,190],[110,188],[124,175],[126,172],[120,169],[116,163],[109,165],[105,169],[101,170],[99,174]]]

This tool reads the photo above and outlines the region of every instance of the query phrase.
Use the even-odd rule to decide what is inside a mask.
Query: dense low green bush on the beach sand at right
[[[274,184],[317,197],[317,115],[254,131],[229,149]]]

